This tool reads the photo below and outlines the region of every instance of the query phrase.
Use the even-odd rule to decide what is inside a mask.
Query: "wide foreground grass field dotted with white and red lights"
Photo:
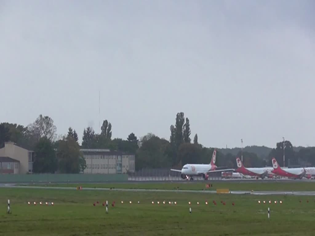
[[[12,214],[6,214],[7,199]],[[110,205],[109,214],[101,205],[106,199],[109,204],[116,201],[115,207]],[[176,201],[177,205],[163,205],[163,200]],[[258,204],[258,200],[267,203]],[[283,203],[274,204],[274,200]],[[314,200],[289,195],[0,188],[0,235],[314,235]],[[28,205],[28,201],[37,205]],[[39,205],[39,201],[53,201],[54,205]],[[96,201],[100,203],[93,206]]]

